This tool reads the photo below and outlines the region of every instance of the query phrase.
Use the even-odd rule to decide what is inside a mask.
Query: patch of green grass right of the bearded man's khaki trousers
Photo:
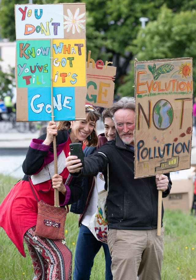
[[[162,279],[196,278],[196,216],[167,210],[164,228]]]

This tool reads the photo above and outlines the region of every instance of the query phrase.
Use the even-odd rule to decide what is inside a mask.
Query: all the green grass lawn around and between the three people
[[[0,175],[0,203],[17,179]],[[69,213],[66,219],[66,242],[74,253],[78,235],[78,215]],[[196,217],[181,211],[164,213],[164,261],[162,280],[191,280],[196,278]],[[26,244],[26,258],[18,252],[0,228],[0,280],[31,280],[33,269]],[[101,269],[100,269],[101,268]],[[92,280],[105,279],[103,249],[97,254],[92,268]],[[153,279],[156,280],[156,279]]]

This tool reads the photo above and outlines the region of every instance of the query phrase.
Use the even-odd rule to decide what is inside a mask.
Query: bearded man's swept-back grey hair
[[[119,101],[113,103],[110,106],[110,112],[114,116],[114,113],[119,109],[131,109],[135,111],[135,98],[134,97],[122,97]]]

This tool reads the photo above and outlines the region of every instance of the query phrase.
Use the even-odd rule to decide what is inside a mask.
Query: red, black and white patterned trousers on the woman
[[[61,240],[51,240],[35,236],[35,227],[30,228],[24,236],[30,253],[33,280],[71,280],[72,252]]]

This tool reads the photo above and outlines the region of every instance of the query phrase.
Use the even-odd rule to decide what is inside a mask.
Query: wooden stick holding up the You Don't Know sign
[[[51,50],[51,113],[52,121],[54,121],[54,104],[53,104],[53,57],[52,57],[53,40],[51,38],[50,50]],[[56,136],[53,137],[53,151],[54,151],[54,174],[58,174],[58,164],[57,164],[57,151],[56,151]],[[59,206],[59,195],[58,190],[55,189],[55,205]]]

